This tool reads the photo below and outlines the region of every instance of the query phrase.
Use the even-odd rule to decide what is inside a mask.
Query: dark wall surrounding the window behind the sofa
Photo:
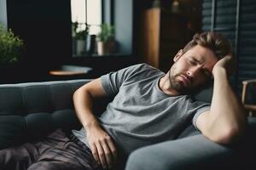
[[[26,50],[15,68],[3,76],[0,73],[7,77],[2,83],[52,80],[49,71],[62,64],[90,66],[92,75],[99,77],[136,63],[132,56],[132,5],[133,0],[113,1],[119,54],[73,58],[70,0],[9,0],[8,26],[24,40]]]

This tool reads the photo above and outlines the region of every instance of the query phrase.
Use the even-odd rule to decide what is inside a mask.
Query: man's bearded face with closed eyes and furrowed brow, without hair
[[[169,71],[171,88],[179,94],[190,94],[212,77],[218,58],[209,48],[196,45],[185,54],[180,50]]]

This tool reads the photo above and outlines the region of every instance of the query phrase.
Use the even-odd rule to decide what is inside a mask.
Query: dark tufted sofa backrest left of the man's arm
[[[79,128],[73,92],[90,80],[0,85],[0,149],[38,139],[57,127]]]

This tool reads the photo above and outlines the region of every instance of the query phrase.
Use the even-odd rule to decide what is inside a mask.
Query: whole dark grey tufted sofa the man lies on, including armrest
[[[73,110],[73,92],[89,81],[0,85],[0,150],[40,139],[58,127],[65,131],[79,129],[81,125]],[[196,94],[195,98],[209,101],[211,90]],[[110,100],[98,101],[94,108],[96,114],[101,114]],[[250,118],[249,122],[245,136],[232,146],[214,144],[189,126],[177,140],[136,150],[131,154],[126,168],[149,170],[162,167],[178,170],[240,166],[244,167],[241,169],[249,169],[247,166],[253,162],[253,153],[256,153],[252,134],[256,132],[255,120]]]

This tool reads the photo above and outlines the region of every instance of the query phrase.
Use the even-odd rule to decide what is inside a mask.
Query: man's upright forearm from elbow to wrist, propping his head
[[[213,136],[224,140],[220,143],[229,143],[225,141],[226,138],[222,138],[222,134],[229,138],[227,140],[241,134],[245,126],[245,113],[240,100],[230,87],[226,70],[219,68],[213,75],[214,87],[209,114],[209,131]]]

